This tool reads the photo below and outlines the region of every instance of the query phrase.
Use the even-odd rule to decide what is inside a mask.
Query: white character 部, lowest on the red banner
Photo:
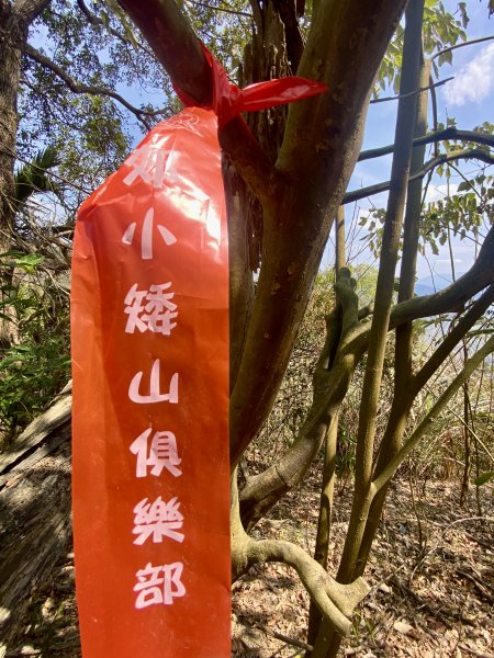
[[[139,569],[135,575],[137,582],[134,591],[138,592],[135,606],[137,610],[162,603],[170,605],[173,599],[183,597],[186,588],[180,577],[183,571],[182,563],[172,563],[171,565],[151,566],[150,563]]]

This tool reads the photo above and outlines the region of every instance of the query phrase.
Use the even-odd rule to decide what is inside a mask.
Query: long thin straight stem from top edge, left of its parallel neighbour
[[[403,64],[401,70],[400,101],[395,128],[395,149],[391,169],[390,194],[383,226],[382,249],[379,262],[378,283],[374,298],[374,313],[369,331],[369,351],[363,376],[362,395],[356,446],[356,487],[350,525],[345,542],[339,575],[353,569],[359,551],[360,534],[363,532],[361,512],[372,477],[373,446],[377,434],[377,420],[381,382],[384,368],[385,348],[392,309],[394,276],[400,250],[405,200],[411,181],[411,161],[416,125],[417,97],[409,94],[420,87],[422,24],[424,1],[411,0],[405,12]],[[353,532],[352,532],[353,530]],[[317,648],[317,643],[316,643]]]

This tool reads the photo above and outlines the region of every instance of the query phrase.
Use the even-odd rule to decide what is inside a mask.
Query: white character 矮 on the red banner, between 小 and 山
[[[171,330],[177,327],[177,322],[171,320],[178,317],[178,313],[173,313],[177,304],[171,302],[175,293],[165,292],[170,286],[171,282],[151,285],[149,291],[138,291],[136,283],[131,287],[124,302],[124,310],[128,315],[125,327],[127,333],[134,333],[137,328],[142,332],[149,329],[155,333],[170,336]]]

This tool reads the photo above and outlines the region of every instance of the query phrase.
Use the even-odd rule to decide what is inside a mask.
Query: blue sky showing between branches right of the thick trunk
[[[457,2],[445,1],[446,9],[454,13]],[[468,38],[494,35],[494,15],[489,19],[487,2],[468,2],[469,18]],[[454,76],[454,79],[437,90],[438,120],[446,124],[448,117],[454,117],[457,126],[472,129],[485,121],[494,123],[494,41],[478,45],[469,45],[453,52],[452,66],[445,64],[440,69],[440,79]],[[386,92],[384,95],[392,95]],[[363,141],[363,149],[392,144],[396,117],[396,102],[371,104]],[[366,188],[380,181],[389,180],[391,156],[367,160],[358,163],[350,181],[349,190]],[[475,170],[470,162],[465,172]],[[454,192],[459,183],[458,177],[450,180],[450,191]],[[446,194],[446,180],[433,179],[427,198],[435,201]],[[367,214],[375,204],[385,207],[386,194],[379,194],[369,200],[361,200],[358,205],[346,207],[347,225],[352,216]],[[363,234],[362,234],[363,235]],[[362,242],[355,242],[353,248],[361,248]],[[471,240],[454,240],[454,260],[457,272],[464,272],[473,262],[474,251]],[[359,262],[372,262],[368,251],[357,259]],[[332,248],[326,250],[323,265],[333,262]],[[418,277],[429,276],[434,272],[439,276],[450,272],[450,260],[447,247],[440,248],[439,256],[427,254],[418,263]]]

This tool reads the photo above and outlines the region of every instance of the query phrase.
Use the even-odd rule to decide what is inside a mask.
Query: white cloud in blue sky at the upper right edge
[[[463,66],[454,80],[444,88],[446,102],[450,105],[480,103],[494,86],[494,44],[491,44]]]

